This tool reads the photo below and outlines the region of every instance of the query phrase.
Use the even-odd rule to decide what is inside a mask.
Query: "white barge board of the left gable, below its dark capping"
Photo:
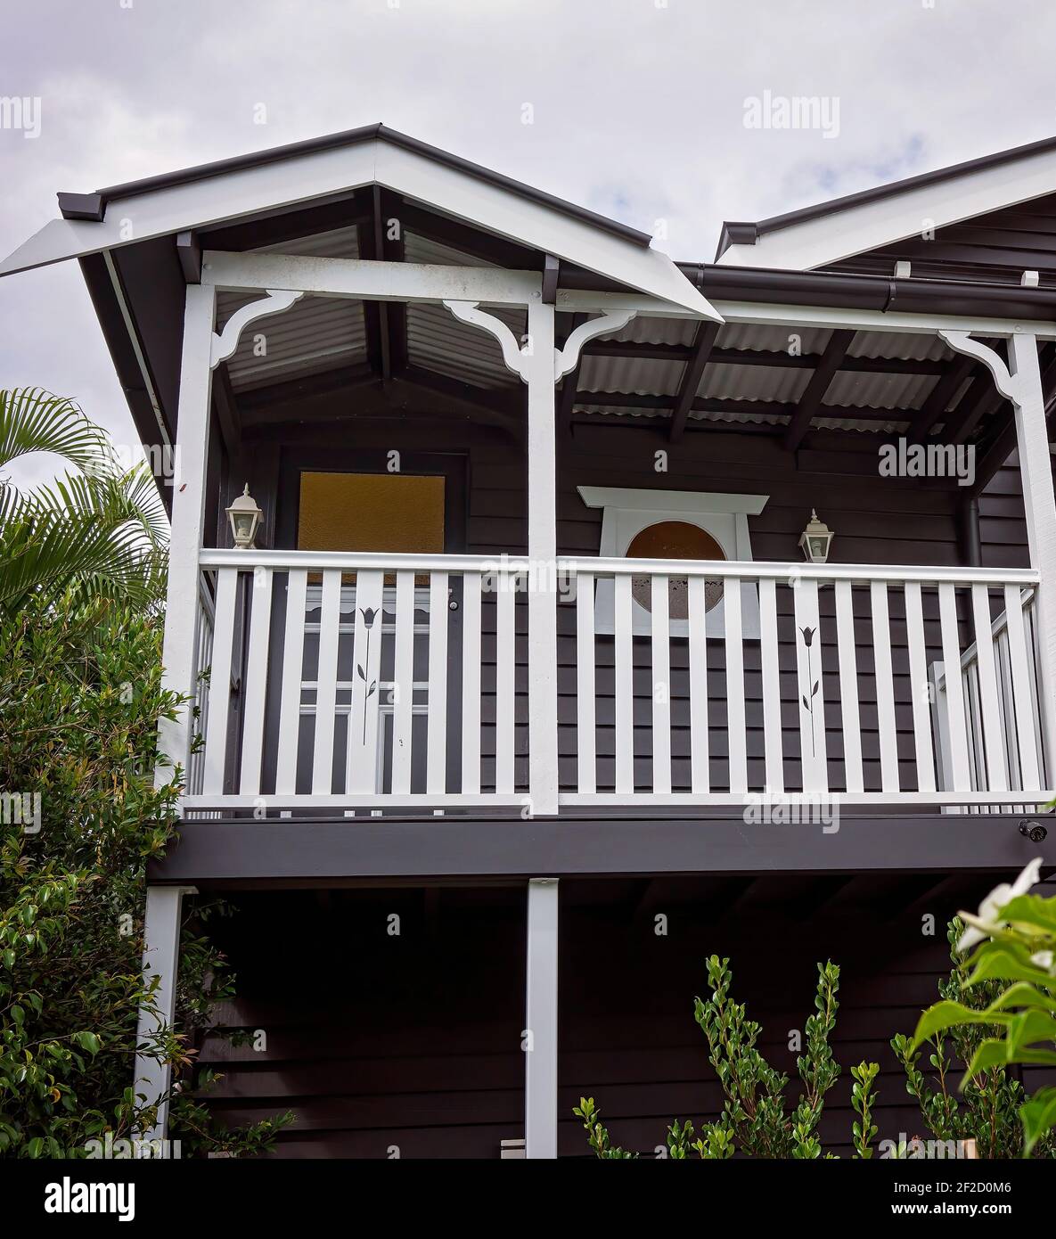
[[[373,183],[702,318],[722,321],[666,254],[395,146],[384,138],[292,154],[288,159],[111,199],[99,222],[53,219],[0,264],[0,276],[152,237],[210,228]]]

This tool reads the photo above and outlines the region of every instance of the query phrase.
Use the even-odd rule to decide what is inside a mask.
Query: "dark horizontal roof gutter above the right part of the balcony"
[[[905,313],[978,315],[1056,320],[1056,289],[957,280],[895,280],[881,275],[782,271],[758,266],[678,263],[678,270],[712,302],[768,301]]]

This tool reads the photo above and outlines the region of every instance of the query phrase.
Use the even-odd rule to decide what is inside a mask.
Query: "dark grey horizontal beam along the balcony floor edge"
[[[426,818],[347,821],[184,821],[157,885],[339,885],[361,881],[514,881],[540,873],[938,873],[1056,865],[1056,831],[1034,843],[1023,814],[844,814],[837,823],[748,824],[737,818]]]

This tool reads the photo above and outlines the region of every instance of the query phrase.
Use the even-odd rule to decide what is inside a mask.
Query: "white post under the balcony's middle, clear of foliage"
[[[529,882],[525,1156],[557,1156],[557,878]]]

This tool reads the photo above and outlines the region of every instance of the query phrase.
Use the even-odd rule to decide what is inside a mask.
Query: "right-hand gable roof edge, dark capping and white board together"
[[[1046,138],[755,223],[727,221],[716,261],[813,270],[1054,190],[1056,138]]]

